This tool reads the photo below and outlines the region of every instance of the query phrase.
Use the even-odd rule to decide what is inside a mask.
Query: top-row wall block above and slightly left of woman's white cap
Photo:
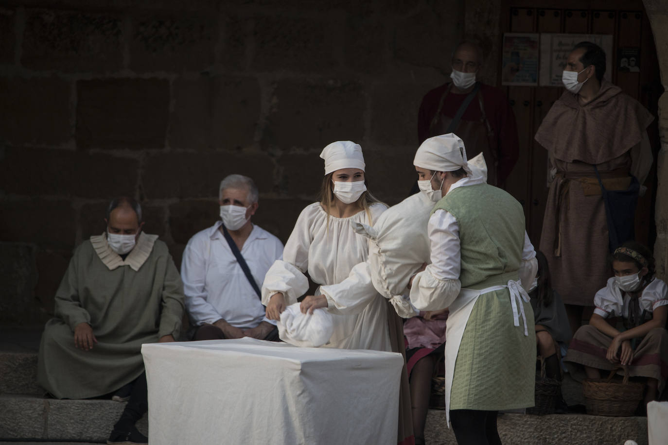
[[[257,71],[329,73],[338,66],[336,27],[330,19],[258,15],[252,67]]]

